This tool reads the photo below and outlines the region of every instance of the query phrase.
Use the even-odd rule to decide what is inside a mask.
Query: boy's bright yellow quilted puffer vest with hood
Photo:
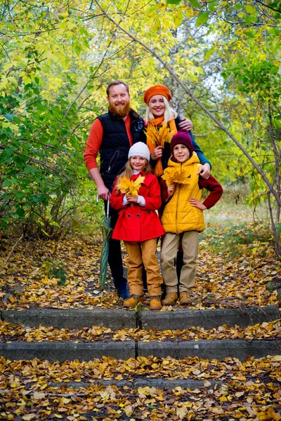
[[[175,192],[164,208],[161,222],[166,232],[181,234],[185,231],[204,231],[203,211],[189,203],[189,199],[192,197],[198,201],[202,197],[202,189],[198,185],[199,174],[197,174],[201,166],[195,152],[188,161],[183,163],[173,162],[169,159],[168,167],[164,173],[166,171],[169,173],[170,168],[181,168],[181,171],[187,175],[188,184],[176,184]]]

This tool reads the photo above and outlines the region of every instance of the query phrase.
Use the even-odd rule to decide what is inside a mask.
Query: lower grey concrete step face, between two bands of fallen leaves
[[[244,361],[248,356],[261,358],[281,353],[281,340],[197,340],[197,341],[107,341],[107,342],[0,342],[0,356],[6,359],[48,359],[48,361],[91,361],[103,356],[127,360],[138,356],[184,359],[223,360],[235,357]]]

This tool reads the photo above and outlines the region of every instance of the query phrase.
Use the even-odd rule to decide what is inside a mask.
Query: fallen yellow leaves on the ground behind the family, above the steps
[[[236,234],[244,241],[241,232],[240,229]],[[215,246],[219,250],[220,244],[226,243],[225,239],[223,241],[223,230],[218,230],[216,234],[208,234],[207,231],[204,235],[190,308],[279,304],[276,291],[266,289],[268,281],[281,278],[281,262],[276,258],[270,241],[260,242],[256,247],[254,243],[235,243],[231,250],[236,250],[237,255],[220,251],[216,254],[212,241],[216,239]],[[101,243],[99,234],[95,234],[93,239],[77,236],[71,241],[21,241],[14,250],[11,241],[2,241],[0,309],[121,308],[122,300],[114,293],[110,276],[106,290],[103,294],[100,291]],[[54,269],[57,269],[56,272]],[[53,275],[62,270],[65,274],[63,280]],[[145,300],[145,305],[149,305],[148,300]]]

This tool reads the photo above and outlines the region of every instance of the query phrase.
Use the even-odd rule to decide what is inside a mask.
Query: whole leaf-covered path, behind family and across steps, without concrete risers
[[[193,309],[279,305],[268,282],[280,282],[280,260],[260,227],[209,228],[200,243]],[[1,310],[122,308],[112,285],[101,295],[101,237],[1,243]],[[55,251],[55,254],[54,254]],[[9,255],[9,253],[11,253]],[[9,255],[8,260],[6,260]],[[174,309],[176,310],[178,306]],[[148,310],[145,302],[144,310]],[[164,312],[173,311],[171,307]],[[276,340],[280,320],[240,328],[185,330],[27,327],[0,321],[1,342]],[[29,420],[281,420],[279,355],[199,359],[138,356],[118,361],[0,358],[0,419]],[[186,387],[186,381],[195,382]],[[165,383],[168,382],[168,383]],[[158,385],[158,386],[157,386]]]

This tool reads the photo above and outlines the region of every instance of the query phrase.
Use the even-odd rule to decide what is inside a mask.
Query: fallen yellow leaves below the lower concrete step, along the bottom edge
[[[281,420],[280,356],[263,359],[181,361],[110,357],[51,363],[0,359],[0,417],[5,420]],[[204,387],[100,385],[98,380],[161,376],[200,378]],[[222,385],[211,385],[211,378]],[[61,385],[61,383],[64,383]],[[72,382],[67,387],[67,382]],[[73,388],[73,382],[87,385]],[[60,385],[58,384],[60,383]],[[89,385],[89,383],[92,385]],[[85,417],[84,417],[85,415]]]

